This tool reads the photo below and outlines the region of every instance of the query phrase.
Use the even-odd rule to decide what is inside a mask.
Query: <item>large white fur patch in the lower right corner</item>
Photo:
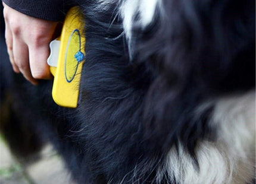
[[[211,125],[217,128],[216,142],[200,142],[196,156],[200,170],[183,151],[170,150],[165,168],[170,180],[181,184],[243,184],[251,182],[255,167],[255,91],[217,100]]]

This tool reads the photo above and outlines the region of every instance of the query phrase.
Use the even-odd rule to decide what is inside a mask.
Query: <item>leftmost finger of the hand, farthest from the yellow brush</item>
[[[5,42],[7,45],[7,52],[10,58],[11,65],[13,66],[13,70],[18,73],[20,72],[20,70],[15,64],[13,56],[13,35],[11,34],[10,26],[7,20],[5,20]]]

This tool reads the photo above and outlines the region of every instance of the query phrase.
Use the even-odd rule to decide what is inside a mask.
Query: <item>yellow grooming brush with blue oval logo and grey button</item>
[[[52,97],[60,106],[77,107],[85,61],[84,21],[79,8],[71,8],[65,18],[61,36],[50,43],[51,55],[47,62],[54,75]]]

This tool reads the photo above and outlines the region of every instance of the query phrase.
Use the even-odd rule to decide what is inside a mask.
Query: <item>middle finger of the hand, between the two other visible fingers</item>
[[[19,39],[19,37],[13,37],[13,55],[14,62],[18,66],[18,69],[30,83],[37,85],[38,81],[32,77],[29,66],[29,49],[27,45]]]

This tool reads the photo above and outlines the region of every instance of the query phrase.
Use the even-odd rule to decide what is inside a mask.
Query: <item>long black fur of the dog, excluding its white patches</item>
[[[1,103],[14,98],[19,123],[40,132],[39,142],[52,141],[79,183],[155,183],[178,139],[195,164],[197,142],[214,140],[214,107],[199,117],[196,107],[255,87],[255,1],[163,1],[164,15],[133,26],[132,59],[119,37],[118,5],[99,11],[97,3],[80,5],[86,62],[79,107],[57,106],[51,81],[34,87],[2,59]]]

